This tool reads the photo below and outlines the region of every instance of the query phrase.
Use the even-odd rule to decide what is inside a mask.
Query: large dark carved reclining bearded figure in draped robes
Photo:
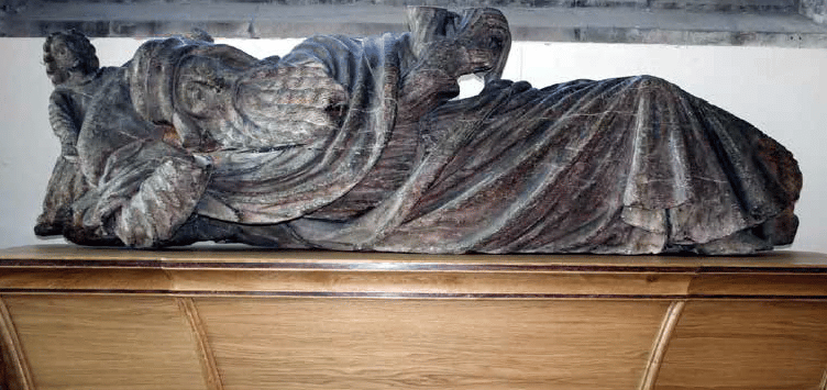
[[[54,221],[36,233],[412,253],[792,242],[801,172],[750,124],[650,76],[501,80],[510,33],[494,9],[408,20],[408,33],[316,36],[261,60],[203,34],[145,43],[84,83],[62,156],[77,168],[58,161]],[[55,93],[81,93],[52,74]],[[485,88],[453,99],[468,74]]]

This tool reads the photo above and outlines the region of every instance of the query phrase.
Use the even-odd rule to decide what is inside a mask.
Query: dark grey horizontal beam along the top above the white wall
[[[818,8],[814,7],[813,15],[807,18],[798,12],[803,7],[798,1],[488,2],[501,4],[498,8],[506,13],[515,41],[827,47],[827,25],[814,21],[818,19]],[[439,3],[463,8],[479,2],[444,0]],[[302,0],[7,0],[2,7],[1,36],[45,36],[69,27],[97,37],[164,36],[201,29],[213,36],[246,38],[372,35],[407,30],[406,7],[397,0],[328,0],[327,3]]]

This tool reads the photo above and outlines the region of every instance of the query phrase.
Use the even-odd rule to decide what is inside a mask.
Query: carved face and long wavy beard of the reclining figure
[[[189,53],[177,63],[173,96],[173,125],[179,133],[198,133],[219,148],[246,149],[324,137],[341,119],[331,109],[348,101],[344,88],[320,65],[251,66],[246,57],[221,46]]]

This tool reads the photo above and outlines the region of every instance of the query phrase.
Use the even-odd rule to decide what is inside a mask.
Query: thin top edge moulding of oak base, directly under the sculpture
[[[396,253],[353,253],[320,250],[261,249],[244,245],[192,246],[164,250],[130,250],[120,248],[82,247],[76,245],[32,245],[0,249],[0,260],[35,259],[95,263],[145,261],[144,266],[172,267],[177,265],[209,267],[212,263],[238,263],[246,267],[274,265],[289,268],[290,265],[348,265],[371,267],[393,265],[398,269],[415,265],[450,265],[460,267],[518,265],[518,266],[571,266],[624,269],[628,267],[680,268],[703,270],[714,267],[761,268],[813,268],[827,267],[827,255],[812,252],[776,250],[754,256],[608,256],[608,255],[417,255]]]

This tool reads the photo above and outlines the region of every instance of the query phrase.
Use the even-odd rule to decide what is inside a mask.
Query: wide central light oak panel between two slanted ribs
[[[225,389],[633,389],[668,301],[196,299]]]

